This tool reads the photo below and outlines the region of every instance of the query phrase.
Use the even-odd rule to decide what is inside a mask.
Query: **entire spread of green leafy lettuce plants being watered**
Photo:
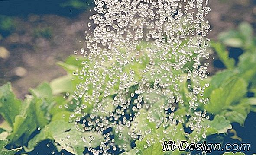
[[[243,31],[244,28],[246,28],[246,31]],[[136,117],[132,119],[129,126],[112,124],[111,127],[107,128],[108,132],[112,133],[112,139],[116,144],[111,146],[111,151],[124,155],[180,155],[186,152],[162,152],[160,141],[173,139],[175,141],[188,140],[189,142],[194,142],[194,139],[197,139],[197,142],[201,142],[207,140],[210,135],[226,134],[227,130],[232,129],[231,123],[233,122],[240,123],[242,126],[247,114],[250,111],[256,112],[255,97],[249,98],[246,96],[247,92],[255,92],[256,90],[256,68],[252,67],[256,65],[256,46],[250,25],[243,23],[240,25],[240,29],[240,31],[235,31],[234,34],[236,35],[224,33],[220,36],[220,42],[211,43],[226,69],[207,79],[200,80],[201,84],[205,85],[203,89],[204,98],[200,96],[200,93],[196,97],[205,104],[200,104],[195,109],[188,104],[189,94],[192,91],[197,91],[191,90],[188,85],[195,85],[196,82],[193,78],[187,79],[187,74],[175,70],[173,73],[177,77],[186,77],[185,80],[175,81],[179,87],[174,87],[173,89],[178,89],[177,93],[181,93],[175,95],[183,97],[175,98],[175,100],[184,101],[184,104],[174,105],[174,107],[176,106],[175,110],[168,107],[165,112],[158,111],[164,108],[169,100],[172,100],[172,98],[167,97],[173,95],[170,92],[165,92],[165,94],[170,93],[168,95],[150,91],[145,91],[141,95],[138,95],[139,93],[124,94],[123,98],[130,101],[132,105],[128,106],[125,112],[130,116]],[[227,57],[228,53],[225,50],[225,45],[244,49],[244,53],[239,57],[237,64],[232,58]],[[144,64],[151,62],[146,57],[149,54],[146,52],[149,46],[150,44],[145,42],[137,45],[136,49],[141,51],[138,54],[138,59],[143,63],[140,63],[139,60],[134,61],[134,63],[130,63],[122,70],[126,72],[132,70],[131,74],[138,80],[149,78],[150,76],[164,77],[166,75],[165,72],[157,72],[157,67],[161,66],[155,68],[156,75],[143,77],[141,74],[145,68]],[[125,50],[121,52],[127,53]],[[170,65],[172,62],[175,62],[175,59],[169,60]],[[1,154],[8,155],[8,153],[3,152],[14,154],[21,149],[7,151],[4,149],[7,143],[12,148],[23,146],[21,152],[28,153],[45,139],[52,140],[58,151],[65,149],[72,154],[81,155],[87,148],[88,151],[97,153],[97,149],[102,147],[101,142],[108,138],[106,136],[107,133],[104,133],[107,131],[96,131],[97,125],[95,124],[92,124],[95,129],[87,128],[83,124],[91,123],[91,120],[97,121],[97,119],[107,117],[110,114],[114,115],[115,112],[122,113],[122,111],[118,110],[119,107],[110,104],[113,103],[113,100],[118,99],[117,93],[120,90],[121,80],[117,85],[113,85],[108,89],[107,96],[96,98],[98,102],[94,104],[86,102],[86,98],[83,95],[80,96],[79,93],[81,92],[76,92],[82,90],[80,89],[82,85],[80,83],[87,76],[83,74],[77,76],[81,74],[79,71],[87,70],[88,74],[93,74],[90,67],[95,66],[95,63],[90,62],[89,58],[79,56],[70,56],[65,62],[58,62],[58,65],[67,71],[67,76],[59,77],[49,83],[44,82],[35,89],[30,89],[29,95],[26,95],[23,101],[15,97],[10,83],[1,86],[0,114],[4,119],[0,124],[0,137],[3,139],[0,141],[0,146],[2,146],[0,148]],[[109,67],[113,64],[118,64],[118,61],[113,60],[112,64],[103,63],[101,65]],[[88,66],[88,68],[84,68],[84,66]],[[193,68],[191,63],[185,64],[185,66],[188,69]],[[104,73],[104,70],[102,70],[102,73]],[[99,91],[102,91],[102,87],[107,88],[110,85],[110,83],[107,83],[108,81],[111,80],[106,78],[105,83],[91,85],[90,88],[87,88],[87,93],[90,95],[96,93],[91,88],[97,86]],[[149,82],[149,90],[154,86],[156,87],[154,82],[156,83],[156,81]],[[139,87],[139,83],[130,84],[127,82],[124,85],[125,90],[129,92],[136,92]],[[165,89],[165,81],[158,82],[158,85],[162,85],[159,89]],[[73,94],[74,91],[77,95]],[[205,101],[203,101],[204,99]],[[143,104],[140,105],[138,103],[142,102],[146,103],[144,105],[148,105],[149,108],[139,108]],[[158,104],[154,104],[156,102]],[[132,112],[131,108],[133,106],[138,108],[134,110],[136,112]],[[95,109],[97,111],[94,111]],[[170,111],[173,112],[172,115],[169,115]],[[190,115],[191,111],[195,112],[195,115]],[[98,118],[92,117],[92,114]],[[109,117],[108,119],[111,122],[111,118]],[[126,118],[120,117],[118,119]],[[163,123],[173,120],[175,121],[172,126]],[[201,130],[193,130],[194,125],[201,127]],[[224,153],[224,155],[233,154],[232,152]],[[243,153],[237,152],[235,155],[243,155]]]

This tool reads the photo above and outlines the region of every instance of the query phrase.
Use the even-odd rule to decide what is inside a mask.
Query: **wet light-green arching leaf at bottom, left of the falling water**
[[[32,151],[39,142],[45,139],[52,139],[61,149],[81,155],[85,147],[95,148],[99,146],[103,136],[97,132],[80,132],[75,129],[74,124],[56,120],[49,123],[38,135],[32,138],[25,150]]]

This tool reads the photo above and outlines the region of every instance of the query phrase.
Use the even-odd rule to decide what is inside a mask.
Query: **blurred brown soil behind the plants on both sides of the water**
[[[218,33],[235,28],[242,21],[256,28],[256,1],[209,0],[209,4],[208,19],[212,29],[209,38],[217,39]],[[10,52],[10,57],[0,58],[0,85],[11,81],[16,95],[23,98],[30,87],[65,75],[55,63],[83,47],[90,14],[82,13],[75,18],[33,14],[26,18],[15,17],[16,30],[0,40],[0,47]],[[42,30],[49,34],[38,35],[36,31]],[[209,70],[215,69],[210,66]]]

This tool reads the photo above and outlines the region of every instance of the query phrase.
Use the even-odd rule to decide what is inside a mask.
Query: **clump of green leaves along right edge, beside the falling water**
[[[227,69],[210,78],[211,86],[204,93],[210,98],[210,103],[204,108],[208,113],[220,114],[230,123],[237,122],[243,126],[247,114],[254,111],[256,104],[255,96],[246,96],[248,92],[253,92],[256,83],[256,67],[253,67],[256,66],[256,42],[253,28],[248,23],[242,23],[239,31],[223,32],[219,38],[221,42],[213,42],[212,47]],[[228,57],[224,45],[244,50],[237,65]]]

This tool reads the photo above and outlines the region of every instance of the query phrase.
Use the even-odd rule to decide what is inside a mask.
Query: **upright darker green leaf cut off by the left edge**
[[[21,101],[16,98],[10,82],[0,87],[0,114],[13,127],[15,117],[19,114]]]

